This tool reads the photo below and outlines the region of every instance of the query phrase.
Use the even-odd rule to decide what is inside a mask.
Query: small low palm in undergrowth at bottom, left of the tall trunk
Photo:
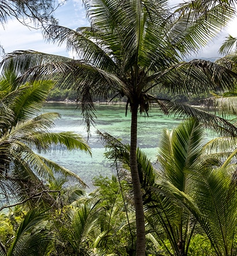
[[[54,218],[57,243],[50,255],[100,255],[94,244],[100,240],[100,208],[90,202],[74,202],[64,209],[63,218]]]

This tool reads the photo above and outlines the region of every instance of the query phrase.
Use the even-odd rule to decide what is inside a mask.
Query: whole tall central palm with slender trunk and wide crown
[[[130,170],[137,225],[137,255],[145,255],[143,198],[136,162],[137,115],[155,102],[165,113],[196,116],[215,128],[236,134],[230,123],[188,105],[155,98],[154,88],[173,93],[207,93],[232,86],[234,72],[216,63],[185,56],[197,51],[234,15],[234,1],[191,1],[171,10],[169,1],[83,1],[91,27],[76,31],[49,26],[46,38],[66,42],[80,59],[16,51],[6,55],[2,69],[12,65],[22,81],[49,75],[61,87],[78,91],[87,129],[95,118],[93,97],[127,99],[130,108]],[[27,72],[25,72],[27,70]],[[208,87],[207,87],[208,84]],[[231,86],[229,86],[231,84]]]

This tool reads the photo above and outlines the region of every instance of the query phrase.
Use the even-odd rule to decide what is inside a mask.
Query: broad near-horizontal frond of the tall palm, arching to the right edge
[[[153,73],[147,80],[155,81],[152,85],[161,84],[169,91],[178,94],[209,93],[213,91],[226,91],[234,89],[236,73],[219,65],[202,59],[194,59],[189,62],[180,62],[163,69],[158,73]],[[207,86],[208,84],[208,86]],[[151,88],[147,88],[149,91]],[[146,92],[145,91],[145,92]]]

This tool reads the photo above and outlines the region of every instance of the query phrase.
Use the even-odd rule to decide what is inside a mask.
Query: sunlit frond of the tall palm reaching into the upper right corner
[[[235,5],[232,1],[185,1],[174,13],[178,15],[173,26],[174,43],[185,49],[185,54],[192,54],[227,26],[235,15]]]

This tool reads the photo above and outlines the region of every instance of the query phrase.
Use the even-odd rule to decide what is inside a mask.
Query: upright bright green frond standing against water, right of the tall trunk
[[[198,168],[202,152],[204,129],[195,119],[189,119],[169,133],[162,134],[160,155],[163,175],[178,189],[192,190],[192,169]]]

